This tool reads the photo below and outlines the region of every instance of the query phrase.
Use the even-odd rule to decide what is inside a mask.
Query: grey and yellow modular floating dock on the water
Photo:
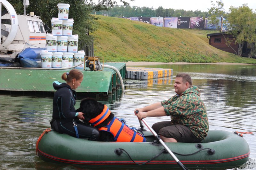
[[[156,78],[170,77],[173,74],[169,68],[145,68],[145,67],[126,67],[126,79],[148,80]]]

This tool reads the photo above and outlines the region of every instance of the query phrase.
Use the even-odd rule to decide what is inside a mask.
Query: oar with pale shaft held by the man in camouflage
[[[139,110],[136,110],[135,113],[139,113]],[[172,151],[165,145],[164,141],[159,137],[159,135],[156,134],[154,129],[152,129],[149,124],[146,122],[144,118],[141,119],[141,121],[148,127],[148,129],[153,133],[155,136],[156,140],[158,140],[163,146],[164,149],[172,156],[172,158],[177,162],[177,164],[180,166],[181,169],[183,170],[188,170],[181,162],[180,160],[172,153]]]

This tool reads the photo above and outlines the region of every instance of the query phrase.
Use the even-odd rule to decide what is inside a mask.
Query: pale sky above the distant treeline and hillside
[[[117,0],[118,1],[118,0]],[[134,2],[130,2],[130,0],[126,0],[126,2],[130,3],[130,6],[139,6],[139,7],[153,7],[158,8],[162,6],[165,8],[172,8],[175,10],[183,9],[185,11],[208,11],[208,8],[212,7],[211,1],[216,4],[216,1],[219,0],[135,0]],[[252,9],[253,12],[256,12],[256,0],[222,0],[224,4],[225,12],[229,12],[228,9],[230,6],[239,7],[243,4],[248,4],[248,7]],[[122,5],[122,3],[118,3],[118,5]],[[217,5],[215,5],[217,6]]]

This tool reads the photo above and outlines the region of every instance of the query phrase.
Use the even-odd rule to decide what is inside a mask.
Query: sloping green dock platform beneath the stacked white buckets
[[[122,79],[125,79],[125,63],[104,63],[116,67]],[[3,91],[29,91],[29,92],[55,92],[52,87],[53,81],[65,82],[61,75],[66,70],[37,70],[37,69],[12,69],[0,68],[0,90]],[[111,94],[113,89],[120,85],[120,79],[116,72],[109,68],[102,71],[90,71],[80,69],[84,74],[81,86],[76,89],[77,93],[100,93]]]

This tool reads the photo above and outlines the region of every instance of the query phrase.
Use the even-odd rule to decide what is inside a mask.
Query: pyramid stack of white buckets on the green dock
[[[68,68],[73,63],[75,66],[84,63],[84,51],[77,51],[78,35],[72,35],[74,20],[68,19],[69,7],[69,4],[58,4],[58,18],[52,18],[52,34],[46,34],[47,51],[41,52],[42,67]],[[46,61],[47,64],[43,63]],[[84,64],[76,68],[84,68]]]

